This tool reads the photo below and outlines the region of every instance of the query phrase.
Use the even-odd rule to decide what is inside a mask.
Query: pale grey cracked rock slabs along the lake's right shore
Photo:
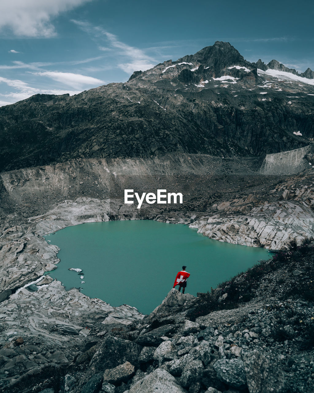
[[[227,214],[203,216],[190,228],[197,228],[198,233],[211,239],[277,250],[292,239],[301,241],[314,235],[311,206],[312,202],[303,206],[292,201],[269,204],[249,195],[244,200],[222,202],[216,208]]]

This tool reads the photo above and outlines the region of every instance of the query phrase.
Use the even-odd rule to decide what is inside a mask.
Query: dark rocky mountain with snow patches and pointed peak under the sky
[[[215,42],[126,83],[1,107],[0,170],[182,152],[265,156],[308,145],[312,79],[269,71]]]

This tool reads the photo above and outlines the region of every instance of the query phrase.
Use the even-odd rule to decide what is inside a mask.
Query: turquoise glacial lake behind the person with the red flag
[[[91,222],[45,238],[60,247],[58,268],[48,274],[67,290],[80,287],[90,298],[125,303],[144,314],[166,297],[183,265],[191,274],[185,293],[196,296],[270,257],[263,248],[219,242],[186,225],[153,220]]]

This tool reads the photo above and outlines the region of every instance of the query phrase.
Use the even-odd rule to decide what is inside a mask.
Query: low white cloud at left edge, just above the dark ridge
[[[60,89],[40,89],[34,88],[28,85],[28,83],[20,81],[19,79],[7,79],[0,77],[0,83],[5,83],[10,87],[13,87],[16,91],[7,94],[1,94],[5,99],[10,101],[0,101],[1,105],[13,104],[22,99],[31,97],[34,94],[79,94],[81,90],[60,90]]]

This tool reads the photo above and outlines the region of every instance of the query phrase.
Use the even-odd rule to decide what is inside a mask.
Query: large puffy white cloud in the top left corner
[[[9,0],[0,1],[0,28],[17,36],[53,37],[51,19],[91,0]]]

